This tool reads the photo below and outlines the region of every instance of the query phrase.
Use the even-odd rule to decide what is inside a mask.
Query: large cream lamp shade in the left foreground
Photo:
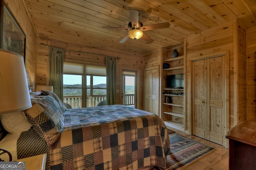
[[[0,114],[32,107],[24,58],[0,49]]]

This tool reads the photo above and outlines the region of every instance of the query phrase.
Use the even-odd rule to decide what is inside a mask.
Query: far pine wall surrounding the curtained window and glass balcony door
[[[111,51],[111,49],[96,49],[77,43],[38,39],[36,82],[40,85],[48,85],[49,46],[64,49],[64,61],[66,62],[105,66],[105,56],[120,57],[117,61],[116,70],[116,104],[122,104],[122,70],[134,70],[138,72],[138,108],[143,109],[143,58],[141,55],[136,55],[136,53],[124,54],[122,51]]]

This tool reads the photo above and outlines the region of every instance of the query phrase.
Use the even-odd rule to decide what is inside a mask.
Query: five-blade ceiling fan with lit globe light
[[[129,39],[140,39],[142,38],[147,43],[152,43],[154,40],[148,37],[142,31],[148,31],[152,29],[161,29],[170,27],[169,22],[157,23],[153,25],[143,26],[142,22],[139,21],[139,12],[137,10],[131,9],[129,10],[131,21],[128,23],[128,28],[120,28],[120,27],[102,27],[104,29],[126,29],[128,30],[128,34],[119,41],[119,43],[124,43]]]

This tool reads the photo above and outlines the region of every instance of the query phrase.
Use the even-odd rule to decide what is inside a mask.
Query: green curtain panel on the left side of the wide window
[[[63,63],[64,49],[50,47],[50,78],[49,85],[53,86],[53,92],[63,100]]]

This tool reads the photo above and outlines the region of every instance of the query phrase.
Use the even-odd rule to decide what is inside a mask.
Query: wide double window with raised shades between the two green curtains
[[[64,63],[63,102],[94,107],[106,100],[106,67]]]

